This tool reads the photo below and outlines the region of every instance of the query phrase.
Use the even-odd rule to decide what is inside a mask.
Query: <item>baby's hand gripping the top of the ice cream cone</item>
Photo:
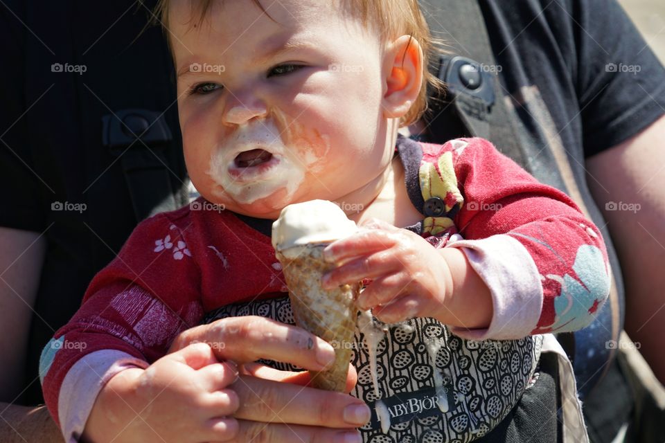
[[[489,290],[463,252],[434,248],[420,235],[378,219],[362,227],[324,251],[326,260],[341,263],[323,276],[324,287],[372,279],[357,306],[373,308],[387,323],[418,316],[468,328],[489,325]]]

